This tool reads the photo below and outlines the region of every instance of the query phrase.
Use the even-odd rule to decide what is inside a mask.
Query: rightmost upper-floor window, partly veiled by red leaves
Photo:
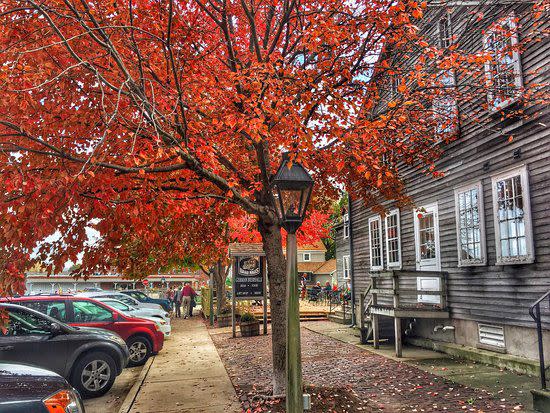
[[[485,51],[491,54],[491,60],[485,63],[491,110],[502,109],[520,96],[523,81],[517,45],[514,16],[495,23],[484,37]]]

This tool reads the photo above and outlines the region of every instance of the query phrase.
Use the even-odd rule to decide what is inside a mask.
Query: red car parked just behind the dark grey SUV
[[[151,354],[164,345],[164,334],[148,320],[133,318],[97,300],[70,295],[30,295],[3,298],[24,305],[71,326],[96,327],[111,330],[126,341],[130,351],[129,366],[144,364]]]

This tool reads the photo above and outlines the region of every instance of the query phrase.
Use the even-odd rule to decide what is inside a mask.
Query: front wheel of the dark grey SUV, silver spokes
[[[85,399],[103,396],[113,386],[116,372],[111,356],[101,352],[88,353],[74,366],[71,384]]]

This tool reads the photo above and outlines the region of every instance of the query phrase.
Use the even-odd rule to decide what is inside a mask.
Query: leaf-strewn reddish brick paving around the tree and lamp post
[[[211,334],[243,411],[284,411],[258,401],[271,380],[271,337]],[[304,382],[315,412],[513,412],[523,407],[410,365],[302,329]],[[283,403],[284,404],[284,403]]]

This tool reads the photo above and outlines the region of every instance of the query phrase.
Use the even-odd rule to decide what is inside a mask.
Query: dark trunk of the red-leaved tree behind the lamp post
[[[285,393],[286,357],[286,261],[278,224],[258,221],[267,259],[269,304],[271,309],[271,343],[273,347],[273,394]]]

